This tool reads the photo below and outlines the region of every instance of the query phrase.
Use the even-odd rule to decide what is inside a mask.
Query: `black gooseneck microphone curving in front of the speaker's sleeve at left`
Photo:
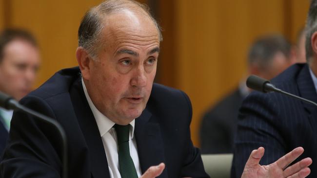
[[[32,116],[35,116],[36,118],[39,118],[40,120],[53,125],[58,131],[59,135],[62,140],[62,152],[61,152],[61,157],[62,157],[62,178],[67,178],[67,140],[66,140],[66,134],[63,129],[63,127],[54,119],[49,118],[43,114],[40,114],[39,112],[36,112],[32,109],[29,109],[27,107],[24,107],[19,104],[18,101],[13,99],[11,96],[0,92],[0,107],[3,107],[5,109],[14,109],[14,110],[20,110],[24,113],[30,114]]]

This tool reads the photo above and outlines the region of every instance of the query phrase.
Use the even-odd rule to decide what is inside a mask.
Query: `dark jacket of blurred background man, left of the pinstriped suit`
[[[204,115],[200,125],[202,154],[232,153],[238,111],[244,96],[236,89]]]

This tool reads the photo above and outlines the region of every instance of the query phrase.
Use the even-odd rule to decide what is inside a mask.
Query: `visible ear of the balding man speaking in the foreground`
[[[76,58],[81,71],[82,78],[89,80],[90,78],[90,63],[92,59],[83,47],[78,47],[76,50]]]

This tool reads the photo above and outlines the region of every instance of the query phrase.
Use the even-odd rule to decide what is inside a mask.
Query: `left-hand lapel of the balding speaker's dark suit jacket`
[[[109,178],[109,169],[99,129],[85,98],[81,80],[74,84],[71,93],[76,116],[86,140],[90,157],[90,168],[94,178]]]

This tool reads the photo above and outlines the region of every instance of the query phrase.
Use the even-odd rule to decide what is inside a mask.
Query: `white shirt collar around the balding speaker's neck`
[[[94,105],[94,103],[91,101],[89,94],[87,92],[86,86],[84,84],[83,79],[81,78],[81,84],[82,84],[82,88],[84,90],[87,102],[89,104],[89,107],[91,109],[91,111],[93,112],[93,115],[96,119],[97,125],[98,125],[98,129],[100,132],[100,136],[102,137],[104,134],[106,134],[116,123],[114,123],[113,121],[111,121],[109,118],[107,118],[105,115],[103,115],[98,109],[97,107]],[[130,122],[130,138],[133,139],[134,136],[134,125],[135,125],[135,119],[133,121]]]

